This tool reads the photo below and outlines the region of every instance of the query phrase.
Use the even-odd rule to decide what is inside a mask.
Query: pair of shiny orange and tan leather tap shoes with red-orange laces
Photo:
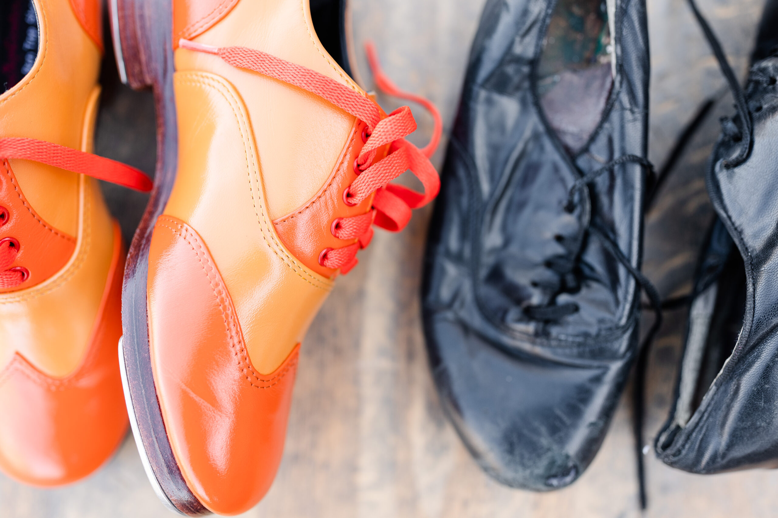
[[[163,502],[241,513],[278,468],[308,325],[372,225],[435,196],[434,144],[405,141],[408,107],[387,115],[328,54],[309,0],[109,8],[121,75],[156,94],[153,188],[90,154],[100,2],[4,8],[22,43],[4,43],[19,78],[0,96],[0,469],[79,480],[129,414]],[[423,193],[389,183],[407,169]],[[95,178],[152,192],[126,268]]]

